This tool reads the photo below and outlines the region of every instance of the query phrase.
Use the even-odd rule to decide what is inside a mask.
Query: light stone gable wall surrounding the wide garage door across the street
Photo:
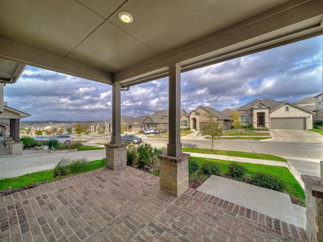
[[[286,107],[288,106],[289,110],[286,111]],[[309,116],[309,117],[308,117]],[[270,117],[298,117],[298,118],[306,118],[306,129],[312,129],[312,113],[308,113],[304,110],[298,109],[294,106],[284,105],[277,110],[271,112]]]

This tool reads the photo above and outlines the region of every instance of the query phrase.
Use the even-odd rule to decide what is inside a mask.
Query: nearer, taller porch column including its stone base
[[[167,154],[159,155],[159,188],[162,191],[181,196],[188,188],[189,154],[182,153],[181,115],[181,67],[169,67],[169,143]]]

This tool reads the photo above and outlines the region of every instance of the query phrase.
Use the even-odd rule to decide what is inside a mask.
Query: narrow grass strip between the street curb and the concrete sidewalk
[[[276,155],[258,154],[258,153],[251,153],[251,152],[242,152],[242,151],[209,150],[209,149],[184,148],[184,147],[182,148],[182,151],[192,152],[192,153],[213,154],[213,155],[227,155],[227,156],[262,159],[262,160],[286,161],[286,159],[284,159],[283,157],[279,157]]]

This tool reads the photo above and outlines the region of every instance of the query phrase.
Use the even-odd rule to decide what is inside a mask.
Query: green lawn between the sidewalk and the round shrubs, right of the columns
[[[200,165],[202,165],[206,161],[216,162],[221,165],[221,170],[224,173],[229,173],[228,165],[232,163],[232,161],[207,159],[207,158],[200,158],[200,157],[192,157],[192,159],[196,160]],[[279,177],[285,184],[285,189],[283,192],[289,194],[292,199],[297,199],[298,201],[301,202],[302,206],[305,206],[304,191],[288,168],[281,167],[281,166],[261,165],[261,164],[252,164],[252,163],[241,163],[241,164],[243,164],[247,168],[247,173],[245,175],[247,177],[251,177],[253,173],[259,172],[259,171]]]

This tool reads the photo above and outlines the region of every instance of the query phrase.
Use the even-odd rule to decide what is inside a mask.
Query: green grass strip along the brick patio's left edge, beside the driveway
[[[84,167],[84,169],[79,170],[78,173],[75,174],[80,174],[84,172],[88,172],[91,170],[95,170],[98,168],[102,168],[105,166],[105,158],[101,160],[95,160],[95,161],[90,161],[86,163],[87,165]],[[52,176],[53,170],[44,170],[44,171],[38,171],[38,172],[33,172],[30,174],[26,175],[21,175],[17,177],[11,177],[11,178],[4,178],[0,180],[0,191],[14,188],[21,188],[25,186],[29,186],[34,183],[41,183],[42,181],[54,181],[58,180],[61,178],[65,178],[66,176],[58,176],[56,178],[53,178]]]

